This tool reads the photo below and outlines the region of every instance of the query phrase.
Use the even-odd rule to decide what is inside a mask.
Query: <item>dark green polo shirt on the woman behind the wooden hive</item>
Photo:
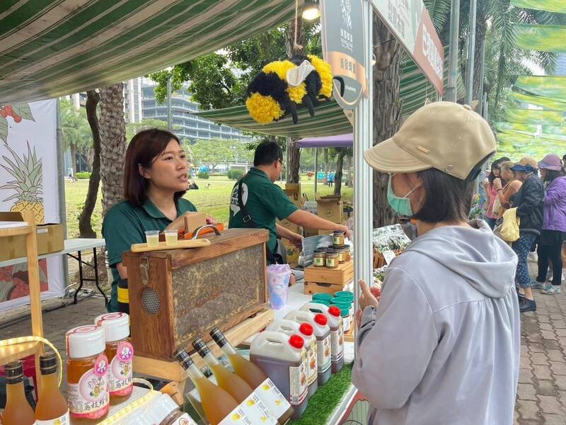
[[[196,211],[195,205],[190,201],[179,198],[177,200],[177,216],[185,212]],[[106,239],[106,250],[108,251],[108,264],[112,269],[112,291],[108,310],[117,311],[117,283],[120,275],[116,268],[117,263],[122,262],[122,253],[129,251],[132,244],[146,242],[146,230],[159,230],[162,232],[171,219],[166,217],[151,200],[142,207],[137,207],[125,200],[117,203],[106,213],[102,225],[102,234]]]

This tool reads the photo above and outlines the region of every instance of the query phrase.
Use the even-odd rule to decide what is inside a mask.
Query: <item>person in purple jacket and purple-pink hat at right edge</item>
[[[560,293],[562,280],[562,243],[566,241],[566,176],[560,157],[548,154],[538,163],[541,177],[546,184],[544,217],[541,238],[538,242],[537,282],[545,282],[548,261],[553,263],[552,283],[545,283],[541,294]]]

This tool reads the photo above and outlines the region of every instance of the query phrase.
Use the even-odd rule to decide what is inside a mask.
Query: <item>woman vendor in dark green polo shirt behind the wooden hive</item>
[[[109,312],[127,309],[127,270],[122,253],[132,244],[145,242],[146,230],[179,229],[183,214],[196,211],[182,198],[188,185],[188,164],[177,136],[166,130],[144,130],[132,138],[126,152],[124,199],[106,214],[102,233],[106,239],[108,264],[112,269]],[[214,222],[207,217],[207,222]],[[125,287],[122,289],[122,286]]]

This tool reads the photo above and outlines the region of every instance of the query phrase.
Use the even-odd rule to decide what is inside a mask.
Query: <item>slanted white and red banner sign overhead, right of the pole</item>
[[[371,4],[439,94],[444,94],[444,48],[422,0],[371,0]]]

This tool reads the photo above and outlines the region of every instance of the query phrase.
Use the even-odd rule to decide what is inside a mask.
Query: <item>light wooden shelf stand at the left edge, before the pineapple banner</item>
[[[0,241],[9,243],[8,237],[25,235],[25,251],[28,258],[28,281],[30,285],[31,331],[33,336],[43,337],[43,319],[41,312],[40,275],[37,264],[37,237],[35,235],[35,215],[30,211],[21,212],[23,221],[27,225],[6,227],[0,229]],[[35,370],[39,378],[40,354],[43,353],[43,344],[39,341],[22,342],[9,346],[0,346],[0,364],[35,354]],[[40,386],[40,379],[37,379]]]

